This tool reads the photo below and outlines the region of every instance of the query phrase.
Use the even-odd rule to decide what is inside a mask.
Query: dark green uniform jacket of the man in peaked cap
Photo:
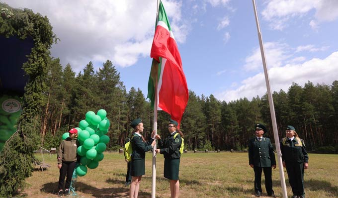
[[[275,155],[271,145],[271,140],[262,137],[261,141],[257,138],[249,140],[249,164],[256,167],[271,167],[276,165]]]

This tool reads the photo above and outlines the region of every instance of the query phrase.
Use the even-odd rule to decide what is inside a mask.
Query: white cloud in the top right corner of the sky
[[[312,9],[316,10],[315,20],[309,22],[317,28],[320,21],[332,21],[338,18],[337,0],[270,0],[261,12],[263,18],[270,21],[273,29],[282,30],[294,17],[302,17]]]

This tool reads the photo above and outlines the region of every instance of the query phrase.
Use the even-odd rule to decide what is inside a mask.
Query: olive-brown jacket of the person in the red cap
[[[77,149],[79,141],[70,137],[62,140],[58,151],[58,164],[64,162],[76,162],[78,160]]]

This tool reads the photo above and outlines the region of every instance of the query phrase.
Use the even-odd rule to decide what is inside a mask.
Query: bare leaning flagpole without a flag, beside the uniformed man
[[[271,114],[271,121],[272,121],[272,128],[273,128],[273,136],[274,136],[274,140],[275,140],[275,144],[276,144],[277,160],[278,160],[279,175],[280,175],[280,184],[282,185],[283,198],[287,198],[284,169],[283,169],[283,163],[282,163],[282,153],[280,152],[280,145],[279,145],[279,138],[278,138],[276,115],[275,115],[275,109],[274,109],[274,105],[273,105],[272,94],[271,94],[269,74],[268,74],[267,67],[266,67],[265,52],[264,52],[264,47],[263,47],[262,35],[260,33],[260,28],[259,28],[259,23],[258,23],[258,16],[257,16],[257,11],[256,11],[255,0],[253,0],[253,5],[254,5],[254,17],[256,19],[256,26],[257,26],[257,32],[258,32],[260,54],[261,54],[261,57],[262,57],[263,68],[264,68],[264,76],[265,76],[265,83],[266,83],[266,89],[267,89],[267,96],[268,96],[269,105],[270,105],[270,114]]]

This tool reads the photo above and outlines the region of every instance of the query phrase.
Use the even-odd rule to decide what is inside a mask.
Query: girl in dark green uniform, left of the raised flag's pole
[[[137,198],[142,176],[146,174],[145,158],[146,152],[154,147],[156,141],[150,138],[148,142],[140,134],[143,132],[143,123],[140,118],[134,119],[130,126],[133,127],[134,133],[131,137],[133,153],[131,155],[131,184],[129,190],[129,198]],[[152,133],[154,136],[155,133]]]

